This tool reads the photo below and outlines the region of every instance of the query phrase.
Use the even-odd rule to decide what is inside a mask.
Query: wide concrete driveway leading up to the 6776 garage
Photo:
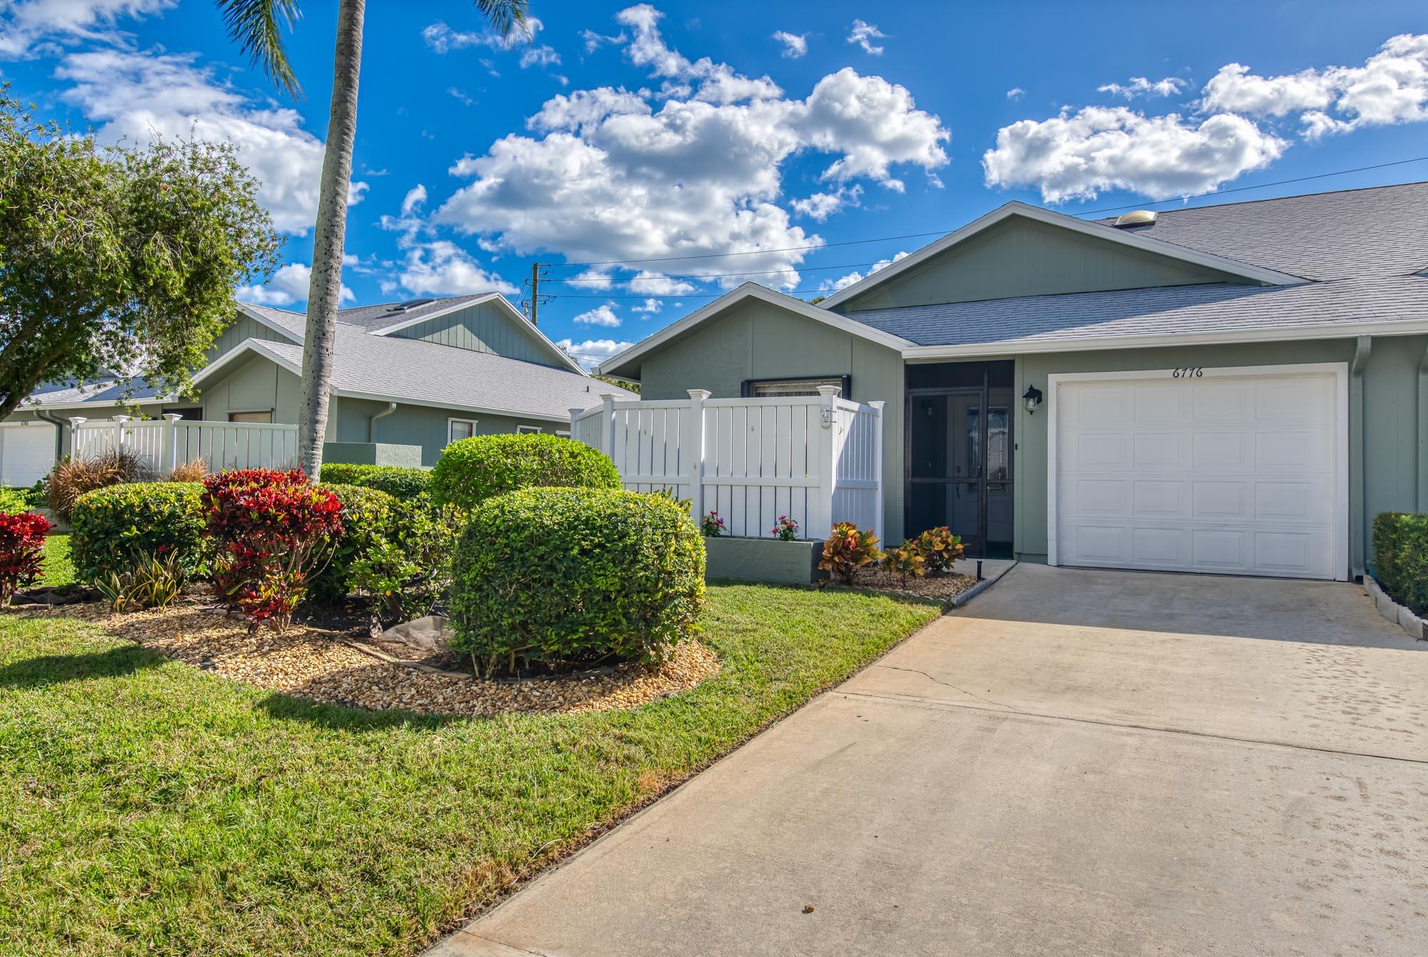
[[[1357,586],[1018,566],[433,953],[1418,957],[1425,706]]]

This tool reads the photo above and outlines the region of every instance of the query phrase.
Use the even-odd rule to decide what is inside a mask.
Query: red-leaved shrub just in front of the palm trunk
[[[203,511],[217,541],[213,583],[251,631],[281,631],[331,560],[341,503],[298,470],[237,469],[203,480]]]

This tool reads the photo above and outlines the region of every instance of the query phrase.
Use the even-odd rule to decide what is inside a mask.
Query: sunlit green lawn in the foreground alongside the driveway
[[[0,617],[0,953],[414,953],[937,614],[713,586],[724,667],[694,691],[487,720],[307,704]]]

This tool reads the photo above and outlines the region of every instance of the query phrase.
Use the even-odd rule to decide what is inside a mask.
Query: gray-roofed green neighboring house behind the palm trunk
[[[296,424],[306,321],[240,304],[194,376],[197,400],[140,389],[131,406],[151,419]],[[598,404],[601,393],[633,397],[587,376],[496,293],[340,310],[334,354],[328,461],[431,466],[457,439],[567,431],[570,410]],[[120,393],[104,383],[37,390],[0,426],[0,484],[49,471],[69,449],[70,417],[130,411]]]

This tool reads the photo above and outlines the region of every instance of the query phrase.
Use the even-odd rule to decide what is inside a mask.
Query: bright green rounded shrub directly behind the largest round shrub
[[[463,439],[447,446],[431,470],[433,497],[463,508],[538,486],[618,488],[620,473],[603,451],[543,433]]]

